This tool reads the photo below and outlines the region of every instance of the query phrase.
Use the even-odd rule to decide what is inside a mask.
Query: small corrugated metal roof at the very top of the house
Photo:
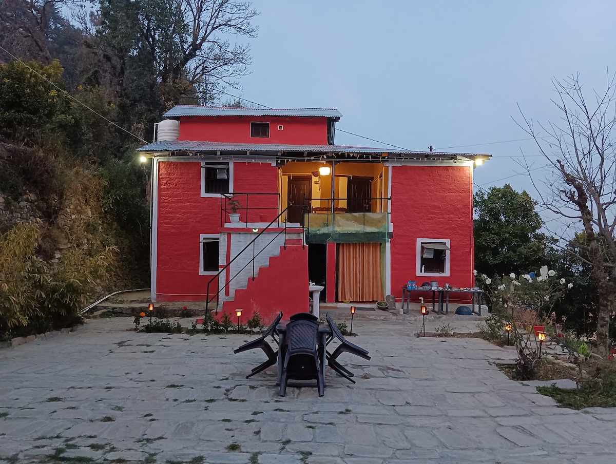
[[[325,116],[340,118],[342,113],[335,108],[231,108],[176,105],[164,113],[167,118],[176,116]]]

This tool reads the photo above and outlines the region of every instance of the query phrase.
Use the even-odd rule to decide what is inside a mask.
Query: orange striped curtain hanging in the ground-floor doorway
[[[338,250],[338,299],[383,300],[381,244],[341,243]]]

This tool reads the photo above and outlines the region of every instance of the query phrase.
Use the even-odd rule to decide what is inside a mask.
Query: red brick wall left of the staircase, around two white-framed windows
[[[235,191],[277,192],[275,166],[234,163],[233,168]],[[157,193],[156,300],[203,301],[211,275],[199,275],[199,237],[218,234],[221,201],[201,198],[200,161],[160,161]],[[277,206],[278,198],[249,197],[249,205]],[[267,213],[274,214],[273,211]],[[240,213],[244,221],[245,212]],[[258,221],[257,213],[249,211],[249,221]]]

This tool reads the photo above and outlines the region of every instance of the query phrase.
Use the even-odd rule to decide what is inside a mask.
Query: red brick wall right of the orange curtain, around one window
[[[438,280],[473,287],[472,168],[468,166],[393,166],[391,179],[391,291],[402,298],[402,285]],[[416,275],[417,238],[450,240],[450,275]],[[429,294],[429,295],[428,295]],[[429,301],[432,292],[424,296]],[[465,298],[465,297],[463,297]]]

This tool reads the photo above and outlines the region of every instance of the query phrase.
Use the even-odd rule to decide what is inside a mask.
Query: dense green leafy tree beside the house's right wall
[[[535,201],[511,185],[474,195],[475,267],[488,276],[535,271],[546,263],[550,239]]]

